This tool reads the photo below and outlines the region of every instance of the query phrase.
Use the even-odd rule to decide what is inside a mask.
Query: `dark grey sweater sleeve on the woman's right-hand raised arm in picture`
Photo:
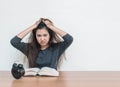
[[[60,54],[62,54],[73,42],[73,37],[70,34],[63,36],[63,42],[59,43]]]

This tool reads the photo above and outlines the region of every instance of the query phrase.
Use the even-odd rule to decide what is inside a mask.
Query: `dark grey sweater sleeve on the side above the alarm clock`
[[[13,47],[27,56],[27,43],[21,42],[21,40],[21,38],[15,36],[11,39],[10,43]]]

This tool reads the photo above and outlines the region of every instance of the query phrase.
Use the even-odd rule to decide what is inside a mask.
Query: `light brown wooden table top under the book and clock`
[[[22,77],[0,71],[0,87],[120,87],[119,71],[61,71],[59,77]]]

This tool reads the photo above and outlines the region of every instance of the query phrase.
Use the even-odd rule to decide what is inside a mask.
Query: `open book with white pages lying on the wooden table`
[[[59,72],[50,67],[42,67],[41,69],[39,68],[28,68],[25,70],[24,76],[59,76]]]

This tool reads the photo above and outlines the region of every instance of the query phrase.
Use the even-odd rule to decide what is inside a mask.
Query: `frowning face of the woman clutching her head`
[[[48,42],[50,40],[50,35],[46,28],[38,29],[36,31],[36,39],[40,44],[41,49],[46,49],[49,46]]]

